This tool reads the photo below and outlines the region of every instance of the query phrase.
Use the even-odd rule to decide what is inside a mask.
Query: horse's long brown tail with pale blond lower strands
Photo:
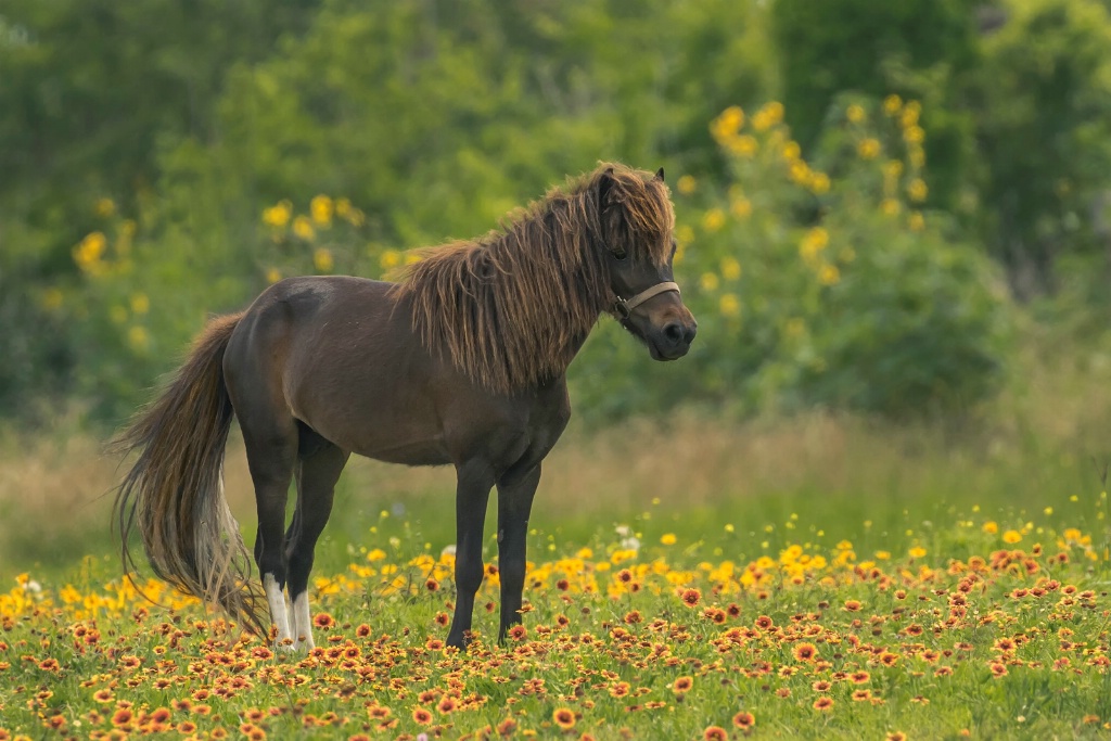
[[[244,628],[266,633],[260,588],[223,495],[223,454],[234,413],[223,353],[242,314],[209,322],[162,395],[116,441],[139,453],[116,495],[127,573],[139,531],[154,573],[179,590],[223,608]]]

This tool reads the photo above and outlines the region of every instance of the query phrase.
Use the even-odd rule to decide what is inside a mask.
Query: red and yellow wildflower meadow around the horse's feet
[[[388,512],[316,580],[307,655],[90,558],[0,595],[0,739],[1101,737],[1105,540],[965,517],[891,550],[798,515],[781,545],[650,517],[549,538],[503,645],[488,562],[466,652],[450,549],[413,552]]]

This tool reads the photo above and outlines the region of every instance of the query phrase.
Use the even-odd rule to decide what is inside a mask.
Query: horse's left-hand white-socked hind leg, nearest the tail
[[[286,585],[286,502],[297,462],[297,425],[292,417],[281,420],[273,414],[248,412],[240,413],[240,428],[259,515],[254,562],[270,605],[270,620],[278,629],[276,643],[282,645],[287,639],[292,642],[293,638],[282,588]]]

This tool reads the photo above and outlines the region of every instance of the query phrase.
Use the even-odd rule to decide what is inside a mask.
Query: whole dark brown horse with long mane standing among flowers
[[[567,368],[591,328],[610,312],[657,360],[682,357],[694,338],[672,282],[673,226],[663,170],[602,166],[500,231],[426,250],[399,283],[291,278],[214,319],[120,439],[139,453],[116,502],[124,569],[134,567],[137,529],[159,577],[308,650],[313,549],[350,454],[452,464],[458,601],[448,643],[469,637],[493,485],[503,640],[521,621],[540,463],[571,414]],[[254,483],[262,590],[223,498],[232,415]]]

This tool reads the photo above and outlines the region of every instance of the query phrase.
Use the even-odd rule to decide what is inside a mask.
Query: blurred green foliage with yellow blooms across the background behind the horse
[[[1007,359],[982,256],[1029,296],[1098,254],[1111,21],[819,4],[6,3],[0,413],[118,419],[277,276],[379,276],[602,159],[665,167],[705,323],[669,367],[607,323],[572,368],[588,413],[974,403]]]

